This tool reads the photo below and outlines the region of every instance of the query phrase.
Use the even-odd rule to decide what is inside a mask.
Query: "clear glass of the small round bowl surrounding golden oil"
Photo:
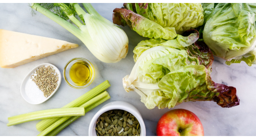
[[[87,66],[90,67],[89,68],[89,72],[90,72],[90,80],[87,81],[86,83],[84,83],[83,86],[77,86],[76,83],[74,83],[71,78],[70,78],[70,68],[72,67],[73,64],[75,64],[76,62],[79,62],[79,61],[84,61],[87,63]],[[90,61],[88,61],[87,59],[85,58],[73,58],[71,59],[70,61],[67,62],[67,64],[65,65],[64,69],[63,69],[63,78],[64,80],[66,81],[66,83],[75,88],[75,89],[83,89],[87,86],[89,86],[92,82],[93,82],[93,79],[94,79],[94,68],[93,68],[93,65],[90,63]]]

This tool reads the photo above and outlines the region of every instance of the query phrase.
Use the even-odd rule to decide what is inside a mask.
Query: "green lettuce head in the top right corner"
[[[256,63],[256,4],[203,4],[204,42],[213,54],[227,60],[226,64],[245,61]]]

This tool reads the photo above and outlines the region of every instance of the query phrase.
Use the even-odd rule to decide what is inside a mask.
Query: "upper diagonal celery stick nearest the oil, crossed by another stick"
[[[84,104],[85,102],[87,102],[88,100],[95,97],[96,95],[99,95],[101,92],[106,90],[109,86],[110,86],[110,84],[109,84],[108,80],[106,80],[103,83],[96,86],[95,88],[88,91],[87,93],[85,93],[84,95],[82,95],[81,97],[78,97],[76,100],[73,100],[72,102],[68,103],[67,105],[65,105],[62,108],[79,107],[82,104]],[[40,122],[38,122],[36,124],[36,129],[41,132],[44,129],[46,129],[48,126],[52,125],[54,122],[59,120],[60,118],[61,117],[41,120]]]

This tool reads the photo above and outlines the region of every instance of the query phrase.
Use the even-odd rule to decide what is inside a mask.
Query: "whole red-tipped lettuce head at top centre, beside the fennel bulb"
[[[176,33],[204,23],[200,3],[124,3],[113,12],[113,23],[154,39],[174,39]]]

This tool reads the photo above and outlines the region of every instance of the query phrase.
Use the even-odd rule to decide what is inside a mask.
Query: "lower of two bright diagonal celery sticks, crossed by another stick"
[[[81,108],[84,108],[85,111],[90,111],[92,108],[98,106],[102,102],[100,100],[108,100],[110,98],[110,95],[107,91],[102,92],[101,94],[97,95],[96,97],[93,97],[91,100],[87,101],[83,105],[81,105]],[[57,128],[59,125],[70,119],[71,117],[61,117],[58,121],[54,122],[52,125],[50,125],[48,128],[46,128],[44,131],[42,131],[38,136],[46,136],[48,133],[50,133],[52,130]],[[79,118],[79,117],[78,117]],[[70,122],[71,123],[71,122]]]

